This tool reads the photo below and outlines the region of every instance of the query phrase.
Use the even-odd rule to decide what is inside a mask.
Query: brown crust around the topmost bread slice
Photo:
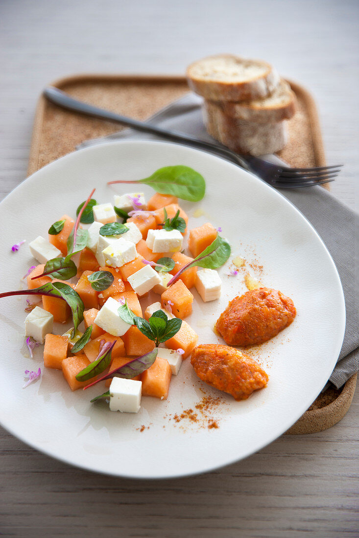
[[[201,62],[217,59],[229,59],[234,62],[243,62],[248,65],[260,66],[263,68],[263,73],[253,75],[248,80],[243,81],[225,81],[215,80],[211,76],[199,76],[194,71],[201,67]],[[234,54],[219,54],[217,56],[209,56],[202,60],[198,60],[187,68],[186,76],[189,87],[205,99],[211,101],[243,101],[251,99],[261,99],[272,93],[279,83],[279,75],[273,67],[261,60],[245,60]]]

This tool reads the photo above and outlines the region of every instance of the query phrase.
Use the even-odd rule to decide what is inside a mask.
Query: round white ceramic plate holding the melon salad
[[[100,203],[112,201],[114,189],[106,186],[107,181],[145,178],[157,168],[177,164],[195,168],[206,180],[204,200],[181,203],[190,216],[190,228],[207,221],[220,226],[232,245],[231,259],[244,257],[257,276],[263,265],[261,283],[290,296],[298,315],[270,343],[252,351],[270,380],[248,400],[236,402],[199,381],[187,359],[178,376],[172,377],[167,401],[142,398],[138,414],[121,414],[110,412],[105,402],[89,403],[105,390],[101,385],[71,392],[56,370],[45,370],[40,380],[23,389],[24,370],[42,366],[42,353],[37,349],[30,359],[24,345],[26,296],[1,299],[1,422],[22,441],[64,462],[133,478],[192,475],[230,464],[289,428],[325,385],[339,355],[345,324],[342,287],[312,226],[251,174],[174,144],[130,141],[90,147],[45,166],[13,190],[0,204],[0,291],[18,289],[19,278],[34,263],[26,244],[12,253],[13,243],[46,237],[61,215],[75,215],[93,187]],[[135,188],[116,187],[118,192]],[[153,194],[150,187],[143,190],[147,197]],[[205,213],[196,218],[197,208]],[[228,271],[229,264],[219,271],[223,279],[219,301],[197,302],[194,292],[194,312],[187,321],[199,333],[199,343],[223,343],[213,333],[213,324],[229,299],[246,291],[244,273],[229,277]],[[57,325],[59,334],[64,331]],[[195,408],[204,394],[220,395],[220,404],[211,412],[219,428],[209,429]],[[189,408],[198,413],[198,423],[173,419]]]

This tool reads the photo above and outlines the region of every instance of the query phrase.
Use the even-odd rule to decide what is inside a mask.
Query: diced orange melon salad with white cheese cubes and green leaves
[[[142,192],[124,192],[100,202],[94,189],[76,217],[61,216],[48,238],[30,242],[38,264],[26,276],[27,289],[0,294],[33,295],[26,343],[31,355],[44,344],[46,369],[61,371],[72,391],[102,381],[105,392],[91,401],[105,398],[109,409],[135,413],[141,396],[168,397],[171,377],[198,342],[185,321],[191,288],[202,301],[218,299],[216,269],[231,252],[211,223],[188,229],[178,197],[203,199],[201,174],[169,166],[141,182],[156,191],[148,201]],[[158,299],[144,308],[148,292]],[[72,329],[58,334],[56,324],[71,317]]]

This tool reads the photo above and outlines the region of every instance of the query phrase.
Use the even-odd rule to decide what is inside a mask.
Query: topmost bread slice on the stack
[[[263,99],[279,82],[269,63],[232,54],[198,60],[188,67],[186,75],[189,87],[211,101]]]

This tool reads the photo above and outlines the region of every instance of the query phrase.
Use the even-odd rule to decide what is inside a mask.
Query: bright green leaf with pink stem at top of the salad
[[[109,181],[107,185],[114,183],[145,183],[157,193],[173,194],[190,202],[202,200],[206,188],[203,176],[193,168],[183,165],[159,168],[148,178],[137,181]]]

